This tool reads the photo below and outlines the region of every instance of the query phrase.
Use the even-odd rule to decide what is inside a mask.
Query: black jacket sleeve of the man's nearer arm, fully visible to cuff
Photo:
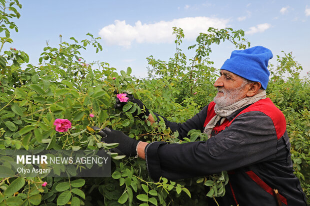
[[[262,112],[239,115],[206,142],[166,144],[145,148],[150,177],[170,180],[216,174],[275,158],[277,137],[272,120]]]

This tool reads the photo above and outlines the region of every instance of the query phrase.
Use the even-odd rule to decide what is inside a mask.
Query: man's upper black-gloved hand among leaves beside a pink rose
[[[117,91],[115,90],[114,91],[115,94],[117,94]],[[141,102],[141,100],[139,99],[135,99],[133,97],[132,94],[128,94],[127,92],[123,92],[123,94],[126,94],[126,97],[128,97],[128,100],[130,102],[133,102],[135,104],[137,104],[137,106],[141,109],[141,113],[137,115],[137,110],[135,112],[132,113],[132,116],[138,116],[140,119],[145,119],[144,116],[148,116],[149,115],[149,111],[148,109],[145,107],[145,105]],[[120,102],[119,99],[117,97],[115,97],[115,105],[114,105],[114,108],[115,109],[122,109],[122,107],[127,104],[127,102]]]

